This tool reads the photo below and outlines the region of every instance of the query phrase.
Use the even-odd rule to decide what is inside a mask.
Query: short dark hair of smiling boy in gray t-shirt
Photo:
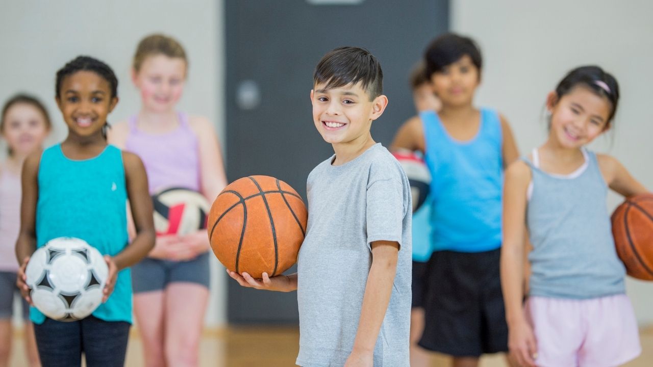
[[[383,93],[381,64],[364,48],[336,48],[322,57],[313,73],[313,85],[327,83],[326,89],[358,82],[370,95],[370,101]]]

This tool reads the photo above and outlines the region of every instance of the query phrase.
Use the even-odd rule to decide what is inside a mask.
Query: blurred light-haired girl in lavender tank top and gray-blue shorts
[[[227,180],[213,124],[176,110],[187,65],[177,40],[158,34],[142,39],[133,60],[140,112],[116,124],[108,137],[111,144],[140,156],[150,194],[185,187],[211,203]],[[134,310],[147,365],[197,365],[209,295],[209,248],[206,229],[159,235],[148,258],[132,267]]]

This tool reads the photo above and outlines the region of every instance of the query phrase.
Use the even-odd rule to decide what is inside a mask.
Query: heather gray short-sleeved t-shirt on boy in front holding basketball
[[[298,257],[300,341],[296,363],[342,367],[358,329],[372,265],[370,243],[400,244],[390,304],[374,349],[375,367],[409,367],[411,191],[381,144],[340,166],[335,156],[308,176],[308,229]]]

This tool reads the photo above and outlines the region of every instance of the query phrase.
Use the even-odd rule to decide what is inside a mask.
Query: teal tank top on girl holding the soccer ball
[[[39,165],[37,202],[37,248],[61,236],[85,240],[103,255],[114,256],[128,244],[127,190],[122,152],[107,146],[84,161],[73,161],[61,144],[46,149]],[[108,300],[93,312],[104,321],[131,323],[131,276],[129,268],[118,272],[116,287]],[[40,324],[45,315],[32,307],[30,318]]]

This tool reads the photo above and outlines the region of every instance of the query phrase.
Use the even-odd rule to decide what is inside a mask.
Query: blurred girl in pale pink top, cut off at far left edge
[[[0,349],[10,345],[11,317],[16,287],[16,240],[20,231],[21,168],[25,158],[42,149],[50,133],[50,117],[44,105],[30,95],[15,95],[9,99],[0,117],[0,132],[7,142],[7,159],[0,166]],[[31,366],[40,366],[34,339],[34,328],[29,322],[29,305],[22,302],[25,330],[25,349]],[[9,355],[0,355],[0,366],[6,366]]]

